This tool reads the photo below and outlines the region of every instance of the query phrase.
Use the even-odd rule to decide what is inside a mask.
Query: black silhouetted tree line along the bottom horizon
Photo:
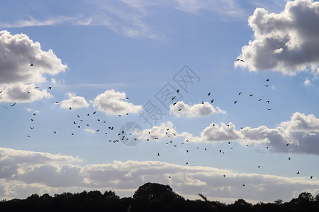
[[[210,201],[199,194],[198,200],[184,199],[173,192],[169,185],[145,183],[132,197],[116,195],[113,191],[62,194],[32,194],[26,199],[0,201],[0,211],[319,211],[319,194],[309,192],[299,194],[289,202],[281,199],[274,203],[250,204],[238,199],[233,204]]]

